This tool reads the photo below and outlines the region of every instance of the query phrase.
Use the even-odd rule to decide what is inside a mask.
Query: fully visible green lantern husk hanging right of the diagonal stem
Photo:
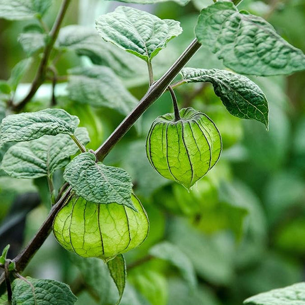
[[[191,188],[218,161],[220,133],[213,121],[191,107],[157,117],[146,139],[147,158],[163,177]]]

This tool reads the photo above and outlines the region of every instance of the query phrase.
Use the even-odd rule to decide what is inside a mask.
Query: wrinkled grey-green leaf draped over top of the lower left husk
[[[92,153],[82,153],[66,167],[64,179],[78,196],[95,203],[124,204],[134,209],[130,198],[131,176],[119,167],[96,163]]]

